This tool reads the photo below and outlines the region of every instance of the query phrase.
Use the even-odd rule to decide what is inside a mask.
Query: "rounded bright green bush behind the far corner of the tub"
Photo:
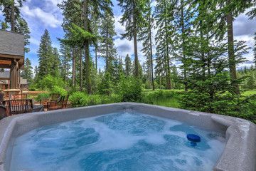
[[[117,94],[122,102],[139,101],[142,98],[142,85],[137,78],[122,76]]]

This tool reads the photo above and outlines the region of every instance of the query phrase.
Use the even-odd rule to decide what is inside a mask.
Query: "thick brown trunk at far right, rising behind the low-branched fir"
[[[230,4],[230,0],[227,2]],[[228,24],[228,59],[229,59],[229,69],[231,78],[235,81],[237,80],[236,66],[235,66],[235,56],[234,56],[234,36],[233,36],[233,14],[232,11],[227,15]],[[236,89],[236,93],[240,94],[238,83],[232,83]]]

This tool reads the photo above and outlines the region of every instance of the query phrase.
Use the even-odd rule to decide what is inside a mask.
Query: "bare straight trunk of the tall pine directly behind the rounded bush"
[[[133,30],[134,30],[134,61],[135,61],[135,77],[139,78],[139,66],[138,66],[138,49],[137,49],[137,24],[136,24],[136,16],[135,16],[135,10],[136,10],[136,6],[135,6],[135,0],[133,0]]]

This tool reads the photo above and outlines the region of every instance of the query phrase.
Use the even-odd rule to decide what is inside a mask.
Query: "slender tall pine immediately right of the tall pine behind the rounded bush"
[[[152,51],[152,30],[154,27],[154,17],[151,14],[151,0],[146,0],[145,8],[144,8],[144,23],[141,26],[141,30],[139,31],[139,41],[144,41],[142,43],[143,49],[142,52],[145,54],[147,58],[147,66],[149,66],[149,82],[152,85],[152,89],[154,90],[154,71],[153,71],[153,51]]]

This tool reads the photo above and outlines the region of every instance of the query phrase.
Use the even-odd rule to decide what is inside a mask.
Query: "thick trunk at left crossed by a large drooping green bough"
[[[88,27],[88,4],[87,0],[84,0],[83,2],[84,7],[84,25],[85,25],[85,31],[89,32]],[[86,88],[87,88],[87,94],[92,94],[92,83],[90,79],[90,51],[89,51],[89,41],[85,41],[85,78],[86,78]]]

